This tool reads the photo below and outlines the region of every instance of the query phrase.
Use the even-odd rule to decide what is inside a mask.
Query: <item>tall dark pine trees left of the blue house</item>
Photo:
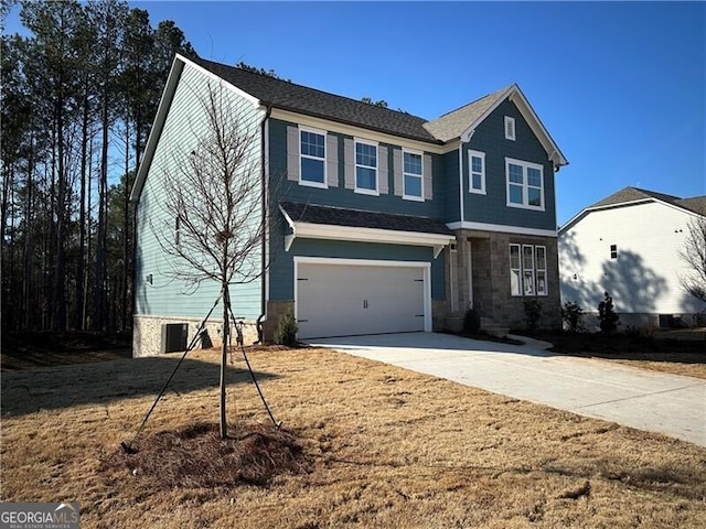
[[[129,194],[173,56],[195,53],[122,0],[18,8],[28,35],[0,50],[2,330],[128,331]]]

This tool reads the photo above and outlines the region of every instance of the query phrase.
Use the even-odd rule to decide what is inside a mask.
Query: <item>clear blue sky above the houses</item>
[[[130,4],[205,58],[427,119],[517,83],[570,162],[559,225],[628,185],[706,194],[703,2]]]

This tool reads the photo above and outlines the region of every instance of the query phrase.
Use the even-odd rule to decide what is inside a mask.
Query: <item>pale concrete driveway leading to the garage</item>
[[[513,346],[408,333],[310,343],[706,446],[703,379],[564,356],[535,341]]]

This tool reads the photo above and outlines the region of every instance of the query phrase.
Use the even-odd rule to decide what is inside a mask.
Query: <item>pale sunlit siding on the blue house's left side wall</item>
[[[137,205],[137,249],[135,273],[135,314],[156,316],[203,317],[220,295],[220,285],[214,281],[200,284],[178,279],[175,270],[184,271],[185,261],[164,252],[162,246],[173,244],[174,219],[165,209],[165,177],[178,177],[179,156],[191,152],[210,130],[203,111],[207,95],[207,77],[199,69],[186,65],[182,73],[173,100],[167,115],[154,158],[149,168]],[[237,112],[238,123],[255,141],[247,151],[247,162],[259,171],[261,147],[259,123],[264,111],[252,101],[224,88],[224,111]],[[225,106],[227,105],[227,106]],[[244,163],[244,166],[249,166]],[[259,261],[259,249],[255,259]],[[151,282],[147,278],[151,277]],[[237,281],[238,277],[234,279]],[[261,313],[263,279],[231,285],[234,313],[255,319]]]

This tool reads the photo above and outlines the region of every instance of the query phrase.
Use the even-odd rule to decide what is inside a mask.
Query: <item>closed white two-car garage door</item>
[[[430,331],[426,263],[297,262],[299,337]]]

